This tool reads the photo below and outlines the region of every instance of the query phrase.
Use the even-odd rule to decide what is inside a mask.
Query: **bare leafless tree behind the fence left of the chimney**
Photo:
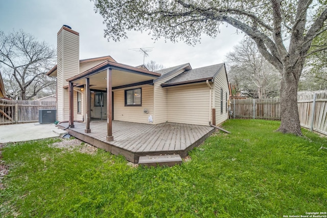
[[[55,79],[47,77],[55,63],[56,52],[20,30],[6,35],[0,31],[0,67],[10,98],[31,100],[42,89],[50,89]]]

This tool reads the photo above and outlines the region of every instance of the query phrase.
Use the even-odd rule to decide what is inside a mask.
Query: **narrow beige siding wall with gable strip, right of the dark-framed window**
[[[161,84],[176,77],[184,72],[184,69],[174,72],[173,74],[164,77],[154,83],[154,116],[155,124],[165,123],[168,120],[167,108],[167,88],[162,88]]]

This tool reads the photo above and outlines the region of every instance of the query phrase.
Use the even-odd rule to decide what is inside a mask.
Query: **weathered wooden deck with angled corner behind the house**
[[[114,155],[121,154],[133,163],[146,155],[179,154],[183,158],[215,131],[209,126],[176,123],[149,125],[112,120],[113,141],[106,141],[105,121],[91,122],[91,133],[85,133],[84,123],[74,125],[75,128],[68,129],[72,136]],[[67,126],[68,123],[62,123],[59,128]]]

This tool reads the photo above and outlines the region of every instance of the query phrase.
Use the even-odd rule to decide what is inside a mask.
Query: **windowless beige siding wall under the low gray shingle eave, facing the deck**
[[[209,88],[206,84],[169,87],[168,122],[209,125]]]

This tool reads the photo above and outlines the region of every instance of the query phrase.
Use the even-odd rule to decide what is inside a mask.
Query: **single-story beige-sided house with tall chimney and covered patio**
[[[196,69],[185,63],[153,72],[111,56],[80,60],[79,33],[63,26],[57,36],[57,65],[47,74],[57,78],[57,119],[68,122],[72,131],[82,123],[84,131],[76,133],[82,140],[94,133],[93,120],[104,120],[102,142],[111,144],[116,137],[113,122],[144,124],[148,129],[166,123],[212,128],[228,118],[224,63]]]

